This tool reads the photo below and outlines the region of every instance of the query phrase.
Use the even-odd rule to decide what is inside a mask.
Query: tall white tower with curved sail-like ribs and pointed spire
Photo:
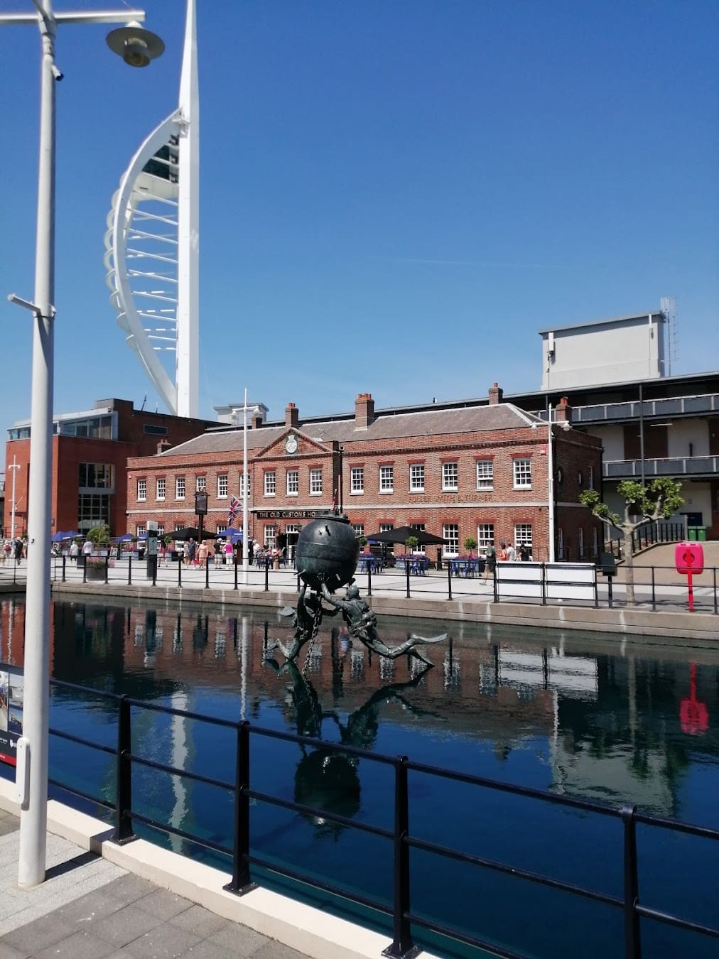
[[[104,238],[118,325],[177,416],[197,417],[199,98],[195,0],[187,0],[179,106],[130,160]]]

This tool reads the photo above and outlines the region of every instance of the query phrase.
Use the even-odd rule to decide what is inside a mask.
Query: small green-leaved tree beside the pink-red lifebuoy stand
[[[580,503],[589,506],[592,516],[596,516],[608,528],[615,526],[621,532],[628,603],[635,601],[634,531],[646,523],[667,520],[672,513],[676,513],[684,505],[681,489],[682,483],[678,479],[653,479],[645,486],[635,479],[622,479],[616,491],[624,500],[623,517],[603,503],[595,489],[580,494]]]

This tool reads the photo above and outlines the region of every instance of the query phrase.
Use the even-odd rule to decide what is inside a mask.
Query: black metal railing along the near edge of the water
[[[639,921],[642,918],[651,919],[660,924],[668,924],[675,928],[688,930],[713,939],[719,939],[719,928],[717,927],[690,922],[682,917],[652,908],[650,905],[640,901],[637,826],[641,824],[652,829],[662,830],[663,832],[680,832],[707,841],[719,840],[719,830],[711,830],[671,819],[647,815],[639,812],[635,806],[610,807],[604,804],[583,799],[574,799],[540,789],[499,783],[484,777],[458,773],[438,766],[413,762],[412,760],[407,760],[406,757],[391,757],[371,753],[353,747],[347,742],[325,742],[316,737],[295,736],[282,731],[262,729],[252,726],[245,720],[233,721],[212,717],[204,713],[178,710],[173,707],[130,699],[128,696],[118,696],[102,690],[92,690],[58,680],[51,680],[51,683],[64,690],[80,692],[83,696],[100,697],[104,702],[114,702],[117,706],[118,738],[115,749],[98,744],[84,737],[62,732],[58,729],[51,728],[50,730],[51,735],[54,737],[60,737],[84,747],[100,750],[104,754],[115,757],[117,772],[115,794],[112,800],[106,800],[87,792],[82,792],[56,779],[50,781],[51,784],[62,789],[64,792],[80,797],[86,802],[95,804],[111,812],[115,821],[115,841],[127,842],[135,837],[133,830],[134,820],[144,824],[151,830],[159,830],[171,838],[179,838],[196,846],[204,847],[217,854],[231,857],[232,878],[225,886],[225,889],[237,895],[243,895],[245,892],[254,888],[252,878],[253,870],[251,867],[262,867],[280,876],[289,877],[290,879],[304,883],[315,889],[320,889],[333,896],[341,897],[342,899],[375,910],[391,919],[393,941],[391,946],[385,951],[387,955],[396,956],[399,959],[399,957],[413,954],[413,928],[416,927],[472,947],[489,949],[495,954],[508,957],[518,957],[521,955],[506,947],[499,947],[497,943],[487,942],[476,936],[464,933],[456,927],[443,925],[434,920],[430,920],[426,916],[412,913],[410,906],[410,889],[413,881],[413,873],[409,857],[410,850],[418,850],[427,854],[437,855],[452,862],[465,863],[478,869],[489,870],[495,874],[519,877],[528,883],[554,890],[557,893],[579,897],[587,901],[594,901],[611,907],[612,909],[620,910],[624,918],[624,955],[628,957],[628,959],[640,959],[641,942]],[[378,693],[380,692],[382,692],[382,690],[378,690]],[[173,765],[151,760],[145,756],[133,754],[131,746],[132,712],[135,710],[151,711],[167,716],[181,717],[183,720],[197,720],[215,727],[234,730],[237,737],[234,781],[228,782],[226,780],[202,776],[181,768],[176,768]],[[252,743],[257,737],[261,740],[275,739],[294,743],[299,745],[303,751],[321,750],[325,757],[341,756],[344,758],[354,758],[356,761],[363,760],[391,767],[394,770],[394,789],[391,797],[395,810],[393,829],[389,830],[366,822],[359,822],[353,818],[342,816],[325,808],[293,802],[289,799],[264,793],[253,788],[250,775],[250,755],[253,749]],[[163,774],[183,777],[191,782],[209,784],[232,793],[235,804],[232,848],[230,849],[222,843],[176,828],[168,825],[165,821],[152,819],[149,816],[139,813],[137,810],[133,810],[132,770],[135,767],[144,767],[145,769],[154,770]],[[623,895],[615,896],[598,892],[586,886],[574,884],[563,879],[557,879],[536,872],[528,872],[511,863],[499,862],[481,855],[466,854],[457,849],[448,848],[421,839],[418,836],[413,836],[409,830],[411,802],[408,788],[408,774],[410,772],[432,778],[441,778],[445,781],[468,784],[492,792],[521,796],[536,803],[566,807],[620,821],[622,826],[621,849],[624,861]],[[369,896],[359,894],[352,888],[339,887],[329,882],[323,882],[314,875],[293,868],[281,867],[276,862],[267,861],[261,856],[253,854],[250,849],[252,838],[250,834],[251,803],[263,803],[272,807],[280,807],[298,812],[305,816],[321,817],[323,822],[335,824],[337,828],[359,830],[365,834],[386,840],[389,844],[388,855],[391,854],[394,864],[392,902],[388,904],[384,901],[378,901]],[[618,846],[619,843],[617,843],[617,847]],[[352,864],[348,864],[348,868],[351,868],[351,865]],[[619,954],[618,947],[615,954]]]

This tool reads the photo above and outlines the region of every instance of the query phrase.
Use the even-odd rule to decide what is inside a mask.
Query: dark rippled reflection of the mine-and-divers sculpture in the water
[[[405,683],[391,683],[375,690],[366,703],[350,713],[343,723],[334,710],[325,712],[322,709],[312,683],[291,660],[282,667],[274,660],[267,660],[267,664],[278,675],[287,673],[290,676],[290,697],[298,736],[320,739],[323,721],[331,719],[336,723],[339,741],[343,745],[370,750],[377,740],[379,713],[383,705],[395,701],[415,715],[427,714],[413,706],[402,694],[402,690],[417,686],[426,670]],[[341,653],[339,658],[333,657],[333,670],[337,669],[341,669]],[[295,803],[324,809],[347,819],[356,815],[359,811],[359,757],[343,753],[329,744],[320,743],[312,747],[303,743],[300,748],[302,756],[294,773]],[[330,822],[317,815],[313,815],[313,822],[319,835],[331,835],[335,839],[344,828],[341,823]]]

